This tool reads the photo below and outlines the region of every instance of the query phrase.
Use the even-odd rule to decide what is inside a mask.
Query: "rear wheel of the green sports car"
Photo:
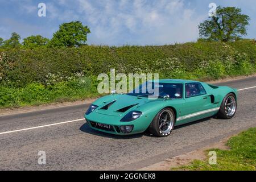
[[[221,103],[217,116],[221,119],[231,119],[237,111],[237,100],[233,93],[226,95]]]

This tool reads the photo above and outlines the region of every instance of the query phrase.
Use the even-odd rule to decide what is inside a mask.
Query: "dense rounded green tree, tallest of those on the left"
[[[63,23],[57,32],[53,34],[51,47],[79,47],[85,44],[90,28],[83,26],[81,22]]]

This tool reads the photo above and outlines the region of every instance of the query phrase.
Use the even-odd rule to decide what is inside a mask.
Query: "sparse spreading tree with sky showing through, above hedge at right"
[[[249,16],[241,14],[241,9],[236,7],[218,6],[216,16],[209,17],[199,25],[200,38],[228,42],[247,35],[246,26]]]

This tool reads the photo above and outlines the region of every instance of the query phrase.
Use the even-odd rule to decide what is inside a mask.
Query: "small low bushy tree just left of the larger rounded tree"
[[[23,46],[26,48],[35,48],[39,46],[46,46],[49,42],[49,39],[44,38],[41,35],[32,35],[23,39]]]

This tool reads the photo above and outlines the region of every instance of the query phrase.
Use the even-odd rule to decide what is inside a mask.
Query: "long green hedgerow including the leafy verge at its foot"
[[[116,73],[159,73],[160,78],[205,81],[249,75],[255,72],[255,59],[256,46],[251,40],[0,49],[0,106],[97,96],[97,76],[109,73],[110,68]]]

